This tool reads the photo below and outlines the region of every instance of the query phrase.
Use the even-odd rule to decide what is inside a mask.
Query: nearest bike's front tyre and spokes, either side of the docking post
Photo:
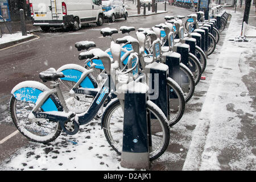
[[[103,129],[104,129],[104,134],[105,134],[106,140],[108,141],[110,146],[113,148],[113,150],[115,152],[117,152],[118,155],[121,155],[121,150],[122,150],[123,122],[119,120],[117,123],[113,123],[114,119],[111,119],[110,117],[112,116],[112,114],[114,113],[114,111],[116,109],[119,109],[119,113],[120,113],[120,111],[122,111],[122,108],[120,108],[120,107],[121,107],[121,105],[120,105],[119,100],[116,100],[115,102],[110,103],[109,106],[106,107],[105,113],[102,116]],[[164,115],[163,113],[160,114],[159,110],[155,109],[156,107],[157,106],[152,101],[146,102],[147,111],[149,110],[151,113],[156,114],[156,118],[160,119],[159,124],[163,129],[164,139],[160,143],[160,147],[157,148],[156,151],[153,150],[152,152],[150,152],[150,161],[159,158],[159,156],[161,156],[164,153],[164,151],[166,151],[166,148],[168,147],[169,142],[170,142],[170,129],[167,125],[166,118],[163,117],[163,115]],[[121,113],[120,115],[123,115],[123,113]],[[112,123],[110,123],[110,120],[112,121]],[[113,131],[113,130],[111,131],[110,126],[115,126],[116,131]],[[152,127],[151,127],[151,129],[152,129]],[[115,135],[112,134],[114,132],[116,132]],[[113,136],[118,137],[117,132],[119,132],[119,138],[113,139]],[[158,133],[158,135],[160,135],[160,133]],[[159,142],[159,141],[156,141],[156,142]],[[154,143],[154,142],[152,142],[152,143]],[[152,147],[152,148],[154,148],[154,147]]]

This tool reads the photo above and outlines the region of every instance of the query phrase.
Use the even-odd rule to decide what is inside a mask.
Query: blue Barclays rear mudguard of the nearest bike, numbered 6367
[[[50,89],[46,85],[38,81],[23,81],[11,90],[11,94],[13,94],[16,100],[35,104],[39,95],[48,90]],[[63,111],[60,102],[51,96],[44,102],[41,108],[43,111]]]

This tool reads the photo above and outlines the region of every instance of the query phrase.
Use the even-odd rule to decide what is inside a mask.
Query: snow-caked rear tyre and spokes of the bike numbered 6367
[[[53,96],[50,96],[50,97],[53,97]],[[17,102],[22,102],[22,104],[26,104],[26,105],[19,106],[20,104],[17,104]],[[13,119],[13,123],[14,123],[15,127],[19,130],[19,132],[22,135],[24,135],[24,137],[31,140],[32,142],[38,142],[38,143],[49,143],[49,142],[52,142],[53,140],[55,140],[57,137],[59,137],[59,135],[62,131],[60,123],[59,122],[51,122],[51,121],[48,121],[48,122],[56,124],[55,128],[51,129],[51,130],[53,130],[53,133],[49,134],[48,137],[37,135],[37,134],[46,134],[46,132],[36,131],[37,128],[42,128],[42,127],[40,127],[42,125],[42,123],[41,123],[41,125],[39,125],[39,123],[41,121],[40,122],[27,121],[28,114],[31,113],[31,111],[32,111],[32,107],[28,106],[30,104],[31,103],[28,103],[28,102],[18,101],[18,100],[16,100],[16,98],[14,96],[11,96],[11,100],[10,100],[11,118]],[[20,107],[20,111],[16,111],[18,106]],[[27,113],[25,113],[26,110],[28,110],[28,107],[30,107],[31,110],[29,110],[29,111],[27,111]],[[20,113],[22,113],[22,114],[20,114]],[[24,119],[26,119],[26,121],[21,122],[19,118],[21,118],[21,119],[24,118]],[[24,122],[29,122],[27,124],[28,124],[28,127],[32,127],[31,131],[29,131],[28,129],[26,129],[26,127],[23,126],[23,124],[26,124]],[[47,127],[48,127],[48,125],[47,125]],[[45,127],[43,127],[43,128],[45,128]],[[46,130],[49,131],[49,128],[46,128]]]

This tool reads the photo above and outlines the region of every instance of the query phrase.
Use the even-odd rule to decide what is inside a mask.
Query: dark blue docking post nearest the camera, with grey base
[[[150,167],[146,93],[125,93],[121,166]]]

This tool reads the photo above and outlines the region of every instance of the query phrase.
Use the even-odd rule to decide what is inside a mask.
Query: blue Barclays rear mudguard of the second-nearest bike
[[[101,63],[102,64],[102,63]],[[103,67],[103,64],[102,64]],[[104,68],[104,67],[103,67]],[[60,78],[61,80],[77,82],[80,80],[82,73],[88,72],[88,69],[81,67],[77,64],[65,64],[57,72],[62,72],[65,77]],[[81,82],[80,86],[82,88],[97,88],[97,81],[92,76],[86,76],[85,79]]]

